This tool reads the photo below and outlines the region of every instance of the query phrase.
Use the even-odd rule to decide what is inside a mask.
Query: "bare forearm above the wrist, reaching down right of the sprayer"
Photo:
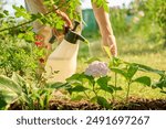
[[[104,34],[113,35],[112,25],[110,22],[108,13],[103,9],[103,7],[97,8],[95,3],[92,3],[94,15],[96,18],[97,24],[100,26],[100,31],[102,36]]]

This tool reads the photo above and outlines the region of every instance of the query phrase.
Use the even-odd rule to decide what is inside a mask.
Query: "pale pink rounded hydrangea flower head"
[[[104,62],[95,61],[89,65],[85,69],[85,75],[93,76],[93,77],[101,77],[106,76],[108,72],[107,64]]]

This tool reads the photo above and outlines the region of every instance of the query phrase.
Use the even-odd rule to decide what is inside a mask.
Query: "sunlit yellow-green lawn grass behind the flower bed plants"
[[[102,61],[108,61],[106,54],[101,49],[101,39],[90,39],[90,49],[81,44],[79,53],[79,65],[77,72],[83,72],[87,64],[85,61],[92,56],[98,57]],[[117,46],[118,46],[118,57],[127,61],[144,64],[153,68],[166,71],[166,50],[163,49],[162,44],[154,44],[147,42],[145,39],[136,36],[117,36]],[[111,73],[113,83],[114,74]],[[156,74],[138,73],[136,76],[147,75],[152,77],[152,80],[155,82],[158,79]],[[136,77],[135,76],[135,77]],[[126,95],[125,79],[118,75],[117,85],[122,86],[124,90],[117,93],[117,98],[124,98]],[[139,98],[164,98],[166,95],[162,94],[158,89],[152,89],[151,87],[145,87],[139,84],[132,84],[129,96],[139,97]]]

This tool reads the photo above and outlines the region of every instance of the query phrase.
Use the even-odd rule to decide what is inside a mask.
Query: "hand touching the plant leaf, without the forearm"
[[[111,34],[103,35],[102,43],[103,46],[108,46],[110,52],[112,53],[113,56],[117,56],[116,39],[114,35]]]

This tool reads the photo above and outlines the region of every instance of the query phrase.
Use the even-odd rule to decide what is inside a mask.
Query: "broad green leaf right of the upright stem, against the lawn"
[[[146,86],[151,86],[151,78],[148,76],[138,77],[138,78],[134,79],[133,82],[141,83]]]

